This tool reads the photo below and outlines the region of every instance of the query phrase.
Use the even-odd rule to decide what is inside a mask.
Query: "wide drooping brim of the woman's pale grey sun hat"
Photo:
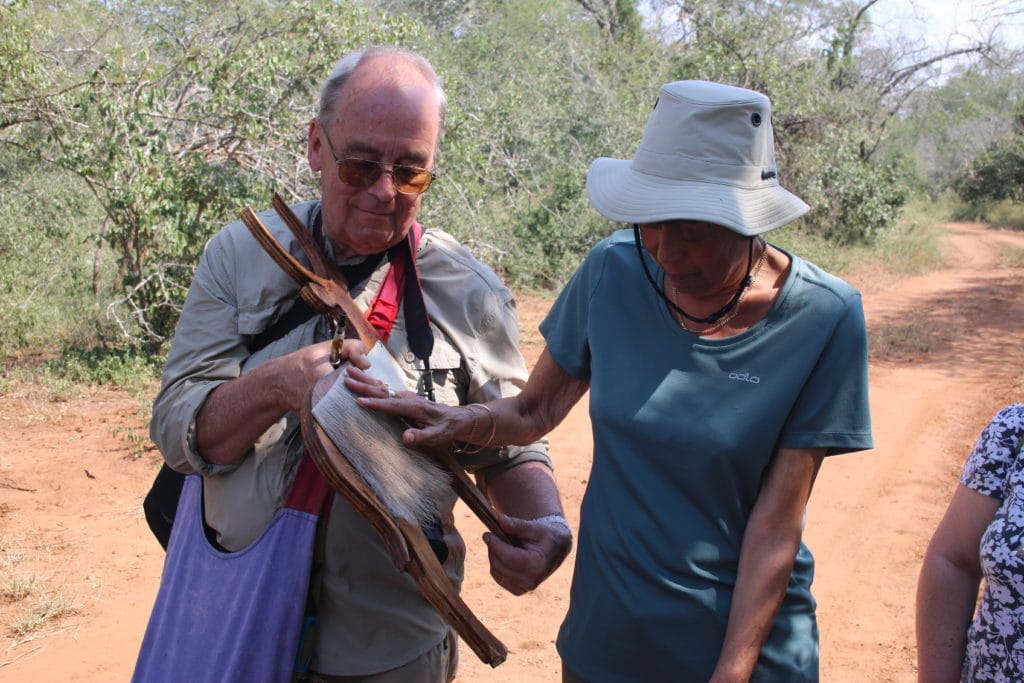
[[[629,160],[607,158],[590,165],[587,196],[591,205],[611,220],[702,220],[745,236],[781,227],[810,210],[803,200],[777,183],[738,187],[674,180],[638,173]]]

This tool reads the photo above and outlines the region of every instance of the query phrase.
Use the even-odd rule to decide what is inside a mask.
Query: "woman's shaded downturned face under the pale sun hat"
[[[641,223],[640,238],[669,286],[693,295],[735,289],[746,274],[750,238],[696,220]]]

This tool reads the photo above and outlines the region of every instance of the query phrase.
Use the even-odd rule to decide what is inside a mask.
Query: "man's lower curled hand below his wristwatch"
[[[490,575],[513,595],[540,586],[572,548],[572,532],[551,517],[529,520],[500,515],[498,521],[515,545],[489,532],[483,535],[483,542],[490,559]]]

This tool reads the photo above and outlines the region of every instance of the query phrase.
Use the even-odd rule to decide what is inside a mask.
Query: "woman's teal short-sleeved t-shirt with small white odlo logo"
[[[558,651],[591,683],[708,680],[772,454],[871,447],[860,295],[791,258],[764,319],[701,339],[673,319],[622,230],[541,325],[555,361],[590,382],[594,462]],[[801,545],[752,680],[817,680],[812,574]]]

